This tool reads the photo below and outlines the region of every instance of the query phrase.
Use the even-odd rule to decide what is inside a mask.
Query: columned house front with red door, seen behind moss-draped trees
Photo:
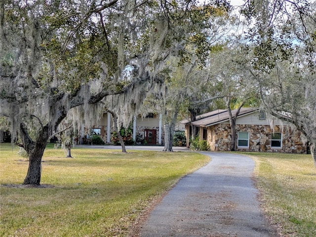
[[[149,113],[145,118],[138,116],[132,122],[132,137],[136,144],[162,145],[164,132],[161,123],[161,114]],[[113,133],[113,120],[110,113],[104,113],[103,117],[91,128],[82,127],[80,131],[80,144],[86,134],[100,135],[102,140],[110,144]]]

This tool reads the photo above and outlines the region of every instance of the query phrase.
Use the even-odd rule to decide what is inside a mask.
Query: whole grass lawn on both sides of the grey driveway
[[[119,149],[120,147],[118,147]],[[28,161],[0,144],[0,236],[128,236],[151,201],[209,158],[193,152],[45,151],[41,184],[21,188]],[[284,237],[316,237],[310,155],[241,153],[256,162],[262,207]],[[10,185],[10,187],[7,187]],[[13,186],[13,187],[12,187]]]

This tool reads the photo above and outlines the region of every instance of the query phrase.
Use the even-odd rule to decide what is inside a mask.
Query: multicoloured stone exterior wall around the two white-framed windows
[[[301,132],[291,126],[276,125],[272,129],[270,125],[242,124],[236,125],[236,131],[249,132],[249,148],[237,148],[237,151],[306,153],[306,144],[302,142]],[[281,148],[271,148],[271,134],[273,132],[282,133]],[[228,151],[231,141],[231,126],[229,124],[222,123],[208,127],[207,142],[211,151]]]

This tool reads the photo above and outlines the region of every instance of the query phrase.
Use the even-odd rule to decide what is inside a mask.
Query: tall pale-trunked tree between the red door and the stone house
[[[202,5],[182,15],[182,29],[190,32],[185,44],[179,44],[179,54],[166,61],[160,76],[164,84],[148,97],[145,104],[162,113],[164,124],[163,151],[172,151],[172,141],[179,110],[188,110],[212,100],[207,73],[201,70],[209,61],[211,51],[220,48],[225,41],[232,19],[229,6],[223,1],[220,5]],[[188,29],[189,27],[189,29]],[[190,29],[192,28],[192,29]],[[176,33],[178,34],[178,33]],[[146,110],[146,109],[145,109]]]

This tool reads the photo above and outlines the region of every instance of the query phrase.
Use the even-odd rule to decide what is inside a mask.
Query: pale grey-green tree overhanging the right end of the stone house
[[[301,131],[316,165],[316,79],[304,58],[297,52],[291,60],[277,60],[269,74],[254,72],[254,78],[260,82],[264,109]]]

